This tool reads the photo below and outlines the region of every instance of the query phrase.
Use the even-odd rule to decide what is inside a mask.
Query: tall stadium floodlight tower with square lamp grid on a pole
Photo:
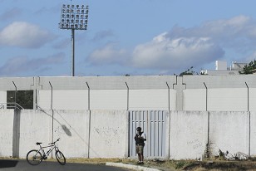
[[[62,5],[61,22],[59,23],[59,28],[71,30],[71,76],[75,76],[75,30],[87,30],[88,13],[88,5]]]

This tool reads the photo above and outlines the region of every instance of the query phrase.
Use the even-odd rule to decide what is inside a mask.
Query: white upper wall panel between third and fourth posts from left
[[[91,110],[127,110],[127,90],[90,90]]]

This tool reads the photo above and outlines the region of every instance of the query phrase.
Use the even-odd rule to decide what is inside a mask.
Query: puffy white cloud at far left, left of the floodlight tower
[[[37,48],[53,39],[49,32],[27,22],[12,22],[0,32],[1,46]]]

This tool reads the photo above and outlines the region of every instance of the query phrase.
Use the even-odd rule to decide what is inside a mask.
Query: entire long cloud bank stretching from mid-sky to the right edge
[[[235,59],[253,54],[256,46],[256,22],[246,16],[204,22],[198,27],[173,27],[153,37],[150,42],[135,46],[128,52],[115,45],[107,45],[91,53],[92,63],[133,66],[159,71],[178,71],[203,67],[213,61]],[[246,54],[245,54],[246,53]],[[230,57],[230,58],[231,58]],[[241,60],[243,61],[243,60]],[[244,59],[245,61],[245,59]]]

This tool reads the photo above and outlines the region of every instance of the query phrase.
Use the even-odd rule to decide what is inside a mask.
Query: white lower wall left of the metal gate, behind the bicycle
[[[128,156],[126,110],[21,110],[16,118],[13,113],[0,110],[0,157],[26,158],[29,150],[38,149],[37,142],[52,142],[52,135],[61,138],[58,146],[66,158]]]

